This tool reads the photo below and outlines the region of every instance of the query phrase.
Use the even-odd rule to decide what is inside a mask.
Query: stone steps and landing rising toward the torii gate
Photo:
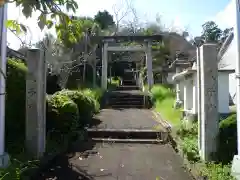
[[[106,108],[99,115],[100,119],[106,122],[106,126],[88,129],[88,137],[91,140],[142,144],[168,141],[168,132],[161,126],[155,128],[155,124],[158,123],[148,110],[146,96],[136,86],[136,82],[125,79],[120,87],[107,94]]]

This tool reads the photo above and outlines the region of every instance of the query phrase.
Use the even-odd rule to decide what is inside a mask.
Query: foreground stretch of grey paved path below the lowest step
[[[193,180],[172,147],[86,142],[83,151],[62,155],[38,180]],[[78,149],[79,148],[79,149]]]

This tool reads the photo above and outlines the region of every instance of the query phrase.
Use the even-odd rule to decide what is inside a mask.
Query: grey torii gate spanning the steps
[[[152,72],[152,42],[162,40],[161,35],[153,36],[104,36],[102,39],[102,89],[108,88],[108,66],[112,62],[112,53],[135,52],[144,53],[144,65],[147,67],[147,83],[151,88],[154,84]],[[126,42],[130,42],[126,45]],[[136,42],[136,43],[135,43]],[[133,44],[134,43],[134,44]],[[137,61],[133,59],[120,61]],[[136,64],[135,64],[136,66]],[[120,67],[119,67],[120,68]],[[129,69],[128,69],[129,71]]]

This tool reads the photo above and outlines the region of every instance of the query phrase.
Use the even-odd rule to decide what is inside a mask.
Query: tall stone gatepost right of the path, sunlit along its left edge
[[[201,152],[204,161],[211,160],[217,150],[218,115],[218,61],[216,44],[200,47],[201,67]]]

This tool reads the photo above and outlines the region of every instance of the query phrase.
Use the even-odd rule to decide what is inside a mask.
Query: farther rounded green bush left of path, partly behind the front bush
[[[62,90],[56,94],[68,96],[77,104],[81,125],[88,123],[93,114],[98,111],[99,103],[93,98],[93,95],[89,96],[86,92],[84,94],[81,91]]]

